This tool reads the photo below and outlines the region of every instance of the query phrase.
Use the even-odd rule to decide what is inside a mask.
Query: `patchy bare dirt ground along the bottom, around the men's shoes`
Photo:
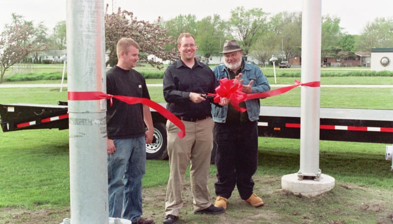
[[[211,201],[214,203],[215,176],[209,179]],[[194,214],[189,180],[183,186],[184,206],[177,224],[392,224],[391,189],[370,188],[336,180],[333,190],[316,197],[296,196],[281,189],[281,176],[254,177],[254,192],[265,205],[254,208],[241,200],[237,190],[228,200],[227,211],[221,215]],[[143,190],[143,216],[156,224],[165,218],[166,186]],[[60,224],[70,217],[69,207],[24,209],[1,208],[0,224]]]

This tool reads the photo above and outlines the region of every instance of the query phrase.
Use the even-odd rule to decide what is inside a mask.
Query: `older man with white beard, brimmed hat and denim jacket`
[[[236,40],[226,40],[221,54],[224,54],[225,64],[213,68],[217,81],[237,79],[246,94],[270,90],[260,68],[242,58],[242,49]],[[253,174],[258,166],[260,102],[259,99],[247,100],[239,106],[247,111],[240,112],[230,104],[224,107],[212,105],[213,136],[217,144],[215,206],[225,209],[235,186],[243,200],[254,207],[263,205],[263,200],[253,193]]]

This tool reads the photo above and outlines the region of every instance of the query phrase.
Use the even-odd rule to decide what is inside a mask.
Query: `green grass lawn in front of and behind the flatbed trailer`
[[[271,78],[269,79],[271,82]],[[294,78],[281,77],[278,80],[282,84],[293,84]],[[323,77],[321,81],[322,84],[393,84],[392,77]],[[42,81],[34,82],[42,83]],[[46,82],[59,83],[59,80]],[[147,83],[161,82],[160,79],[147,80]],[[67,88],[63,88],[63,92],[59,92],[59,88],[1,88],[0,103],[56,104],[59,100],[67,99],[66,90]],[[149,87],[149,91],[152,100],[164,102],[162,87]],[[300,98],[299,87],[282,95],[263,99],[261,102],[265,106],[300,106]],[[321,88],[321,107],[392,110],[392,99],[392,88]],[[329,197],[307,199],[295,196],[288,197],[276,192],[280,189],[278,182],[282,175],[296,173],[299,170],[300,140],[262,137],[258,140],[259,161],[258,170],[254,177],[257,180],[257,191],[269,203],[265,206],[264,213],[274,212],[274,214],[283,214],[282,216],[284,216],[274,215],[276,219],[273,219],[273,223],[280,222],[281,219],[282,221],[288,219],[293,223],[309,223],[308,221],[310,223],[313,221],[326,223],[326,220],[357,223],[362,220],[360,214],[366,216],[364,219],[366,223],[377,223],[373,218],[377,212],[365,212],[361,208],[359,211],[354,210],[351,204],[353,201],[347,202],[348,198],[352,198],[351,200],[362,198],[365,195],[362,192],[366,190],[360,190],[359,193],[356,189],[346,191],[344,187],[349,186],[349,189],[353,186],[355,188],[363,187],[367,190],[375,189],[376,192],[382,190],[391,192],[393,190],[393,174],[390,172],[392,161],[385,160],[386,144],[320,141],[320,168],[323,174],[333,176],[338,186],[329,194]],[[0,208],[36,210],[69,206],[68,148],[68,130],[0,132],[0,172],[2,173]],[[168,161],[147,161],[146,175],[143,178],[143,186],[146,191],[148,189],[164,191],[165,196],[168,173]],[[214,181],[215,174],[216,168],[211,166],[210,177],[212,181]],[[212,190],[213,182],[209,184]],[[270,185],[272,186],[270,187]],[[214,191],[212,191],[212,195],[214,195]],[[333,199],[334,197],[337,198]],[[386,199],[391,202],[389,195],[386,195]],[[343,201],[346,205],[340,204]],[[356,203],[358,202],[356,201]],[[163,206],[163,203],[160,206]],[[236,204],[235,201],[231,203],[232,206],[242,206]],[[191,205],[187,204],[186,206]],[[345,210],[345,207],[348,209]],[[311,209],[315,209],[316,212],[310,212]],[[314,214],[325,211],[331,211],[331,213],[327,215]],[[163,210],[157,211],[157,208],[154,208],[150,211],[147,208],[146,212],[157,216],[157,212],[163,213]],[[243,212],[255,216],[254,213],[257,211],[244,209]],[[228,216],[231,216],[233,211],[229,210],[227,213]],[[290,217],[287,217],[287,213],[291,214]],[[299,216],[293,215],[295,213],[299,213]],[[233,219],[245,214],[239,214],[238,211],[234,213]],[[186,216],[184,213],[183,215]],[[202,219],[193,215],[188,216],[191,216],[190,223],[198,223]],[[216,218],[209,219],[210,221],[207,223],[220,223]],[[156,220],[156,223],[158,222],[160,220]]]

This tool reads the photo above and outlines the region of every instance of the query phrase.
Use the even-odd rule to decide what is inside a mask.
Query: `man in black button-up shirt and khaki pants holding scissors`
[[[186,136],[179,139],[179,129],[167,121],[170,174],[164,224],[173,224],[178,220],[183,206],[181,191],[184,174],[189,163],[195,213],[225,212],[224,208],[211,204],[207,188],[214,122],[210,106],[213,99],[206,99],[206,94],[214,93],[218,83],[212,70],[194,58],[197,46],[191,33],[180,34],[177,43],[180,58],[165,71],[163,91],[168,111],[183,120]],[[228,103],[229,100],[223,98],[219,105]]]

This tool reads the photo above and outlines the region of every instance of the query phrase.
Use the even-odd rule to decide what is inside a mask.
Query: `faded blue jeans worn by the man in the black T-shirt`
[[[142,177],[146,171],[145,137],[114,139],[108,155],[109,217],[137,222],[142,215]],[[124,205],[123,205],[124,202]]]

